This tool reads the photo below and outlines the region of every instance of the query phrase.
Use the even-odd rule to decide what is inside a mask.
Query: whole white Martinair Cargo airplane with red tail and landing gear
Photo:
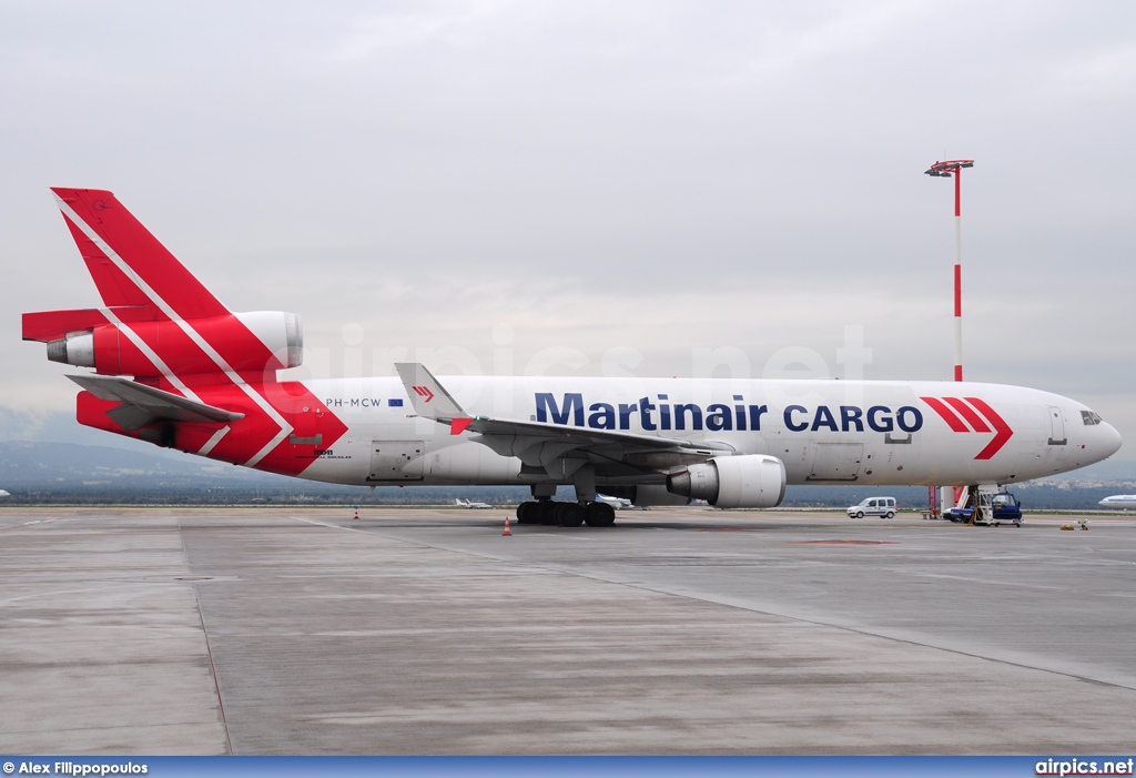
[[[365,486],[527,485],[521,524],[609,526],[598,487],[636,505],[770,508],[786,484],[1005,484],[1120,447],[1076,400],[997,384],[438,379],[412,362],[398,378],[287,380],[298,316],[232,312],[112,193],[55,192],[102,307],[25,313],[24,338],[94,368],[68,376],[81,424],[224,462]],[[576,501],[553,502],[559,485]]]

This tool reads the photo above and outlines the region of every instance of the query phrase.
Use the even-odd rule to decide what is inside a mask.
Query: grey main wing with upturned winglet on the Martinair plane
[[[718,442],[470,416],[424,365],[400,362],[394,367],[417,416],[449,424],[451,435],[460,435],[467,429],[477,433],[479,437],[475,440],[478,443],[501,455],[518,457],[526,465],[540,465],[550,475],[553,462],[566,457],[591,459],[598,466],[608,466],[609,470],[623,465],[630,468],[626,475],[632,475],[632,471],[666,470],[691,461],[703,461],[716,453],[734,452],[733,446]],[[620,468],[615,470],[612,475],[617,475]]]

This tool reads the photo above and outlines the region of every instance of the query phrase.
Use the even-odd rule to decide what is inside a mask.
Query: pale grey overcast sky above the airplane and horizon
[[[1136,463],[1136,5],[10,0],[0,74],[0,437],[74,405],[19,313],[98,304],[51,185],[300,313],[299,377],[843,376],[850,332],[868,378],[950,379],[922,172],[974,158],[967,378]]]

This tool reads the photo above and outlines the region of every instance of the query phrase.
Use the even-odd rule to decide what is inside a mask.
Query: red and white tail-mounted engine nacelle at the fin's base
[[[219,371],[214,354],[237,371],[279,370],[303,362],[303,326],[295,313],[253,311],[124,326],[130,333],[115,324],[99,324],[49,341],[48,359],[93,367],[108,376],[159,375],[153,357],[175,375]]]

